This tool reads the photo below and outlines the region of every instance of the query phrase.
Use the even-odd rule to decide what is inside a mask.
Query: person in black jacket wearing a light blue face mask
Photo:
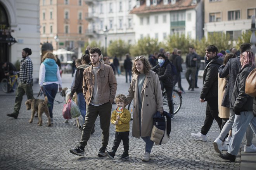
[[[171,113],[171,117],[173,118],[173,72],[171,69],[171,64],[168,58],[162,53],[158,55],[157,59],[158,64],[153,67],[151,70],[156,72],[158,78],[161,83],[161,89],[165,88],[169,106],[169,113]]]

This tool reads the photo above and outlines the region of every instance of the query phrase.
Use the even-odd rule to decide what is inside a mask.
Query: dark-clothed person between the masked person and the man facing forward
[[[181,50],[177,50],[177,54],[173,55],[173,65],[176,67],[177,74],[175,76],[173,86],[178,82],[178,87],[182,92],[184,92],[182,85],[181,85],[181,75],[182,72],[182,58],[181,58]]]

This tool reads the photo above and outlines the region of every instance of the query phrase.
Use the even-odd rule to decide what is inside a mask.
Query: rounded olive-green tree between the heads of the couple
[[[109,56],[119,57],[121,59],[126,53],[129,53],[130,45],[125,41],[118,39],[112,41],[112,43],[107,47],[107,54]]]

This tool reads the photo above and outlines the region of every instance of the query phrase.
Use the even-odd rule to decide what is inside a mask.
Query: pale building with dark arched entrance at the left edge
[[[34,65],[33,77],[38,78],[40,65],[39,0],[0,0],[0,15],[1,39],[7,32],[10,32],[17,41],[17,43],[0,41],[0,62],[14,64],[17,60],[21,61],[22,49],[31,48],[32,55],[29,57]]]

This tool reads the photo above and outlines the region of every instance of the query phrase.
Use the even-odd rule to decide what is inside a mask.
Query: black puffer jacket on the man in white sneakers
[[[223,58],[213,57],[204,68],[203,86],[200,98],[208,100],[218,96],[218,70],[223,64]]]

